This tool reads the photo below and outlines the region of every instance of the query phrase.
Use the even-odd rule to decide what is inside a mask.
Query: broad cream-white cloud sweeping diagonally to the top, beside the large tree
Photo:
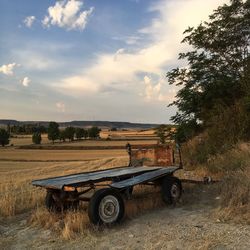
[[[67,94],[80,95],[96,93],[103,86],[118,83],[120,88],[130,88],[138,94],[144,91],[143,97],[147,100],[170,100],[174,93],[169,90],[174,86],[167,85],[164,75],[177,63],[178,53],[187,48],[180,43],[183,31],[207,20],[212,11],[225,2],[228,0],[210,0],[205,4],[200,0],[153,3],[150,11],[156,12],[157,18],[138,31],[138,36],[148,36],[150,43],[134,50],[130,47],[129,50],[122,48],[114,53],[99,54],[94,64],[85,66],[77,75],[62,79],[57,87]],[[151,75],[155,83],[151,82]],[[139,84],[143,80],[145,84]]]

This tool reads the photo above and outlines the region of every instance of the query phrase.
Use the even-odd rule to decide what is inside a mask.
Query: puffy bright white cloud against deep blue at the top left
[[[82,11],[83,2],[77,0],[57,1],[48,8],[48,15],[42,21],[45,27],[51,25],[67,30],[84,30],[94,7]]]

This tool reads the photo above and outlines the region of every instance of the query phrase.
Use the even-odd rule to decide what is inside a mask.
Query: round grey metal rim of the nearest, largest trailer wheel
[[[105,196],[99,205],[99,216],[104,223],[115,222],[120,212],[118,199],[113,195]]]

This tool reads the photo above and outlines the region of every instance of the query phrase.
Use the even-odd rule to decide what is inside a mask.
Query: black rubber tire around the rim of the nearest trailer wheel
[[[99,216],[99,205],[101,200],[107,196],[107,195],[113,195],[119,202],[120,210],[117,219],[112,223],[105,223],[102,221],[102,219]],[[125,207],[124,207],[124,201],[122,196],[116,192],[115,190],[111,188],[103,188],[94,193],[94,195],[91,197],[88,207],[88,216],[91,223],[94,225],[113,225],[119,223],[125,213]]]

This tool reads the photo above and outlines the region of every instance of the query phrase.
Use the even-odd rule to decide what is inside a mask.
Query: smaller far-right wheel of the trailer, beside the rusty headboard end
[[[181,181],[173,176],[166,176],[162,180],[161,193],[163,201],[168,204],[175,204],[182,194]]]

